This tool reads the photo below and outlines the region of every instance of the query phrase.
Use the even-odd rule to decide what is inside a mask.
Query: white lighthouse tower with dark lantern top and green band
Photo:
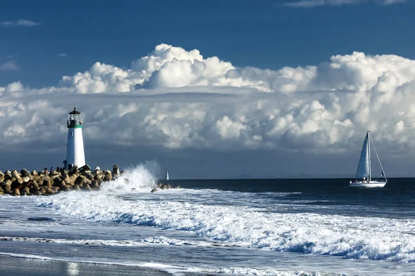
[[[85,165],[84,139],[82,139],[81,112],[73,108],[69,113],[67,121],[68,126],[68,144],[66,144],[65,168],[71,169],[73,166],[78,168]]]

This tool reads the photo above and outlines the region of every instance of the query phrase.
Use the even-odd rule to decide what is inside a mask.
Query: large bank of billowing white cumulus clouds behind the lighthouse
[[[56,87],[0,88],[0,139],[64,139],[76,106],[94,144],[344,152],[371,130],[383,150],[407,152],[414,90],[415,61],[396,55],[353,52],[267,70],[161,44],[130,68],[97,62]]]

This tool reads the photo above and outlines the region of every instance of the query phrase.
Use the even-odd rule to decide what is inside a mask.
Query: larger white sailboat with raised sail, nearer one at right
[[[385,176],[385,172],[383,171],[382,164],[380,163],[380,159],[378,156],[378,152],[376,152],[375,145],[374,150],[376,152],[376,157],[378,157],[378,161],[380,164],[380,169],[382,173],[380,177],[377,179],[371,179],[371,158],[370,158],[370,145],[373,144],[371,141],[371,135],[368,131],[366,134],[365,141],[363,142],[362,152],[360,152],[360,159],[358,164],[358,170],[356,171],[356,175],[353,180],[350,181],[349,187],[376,187],[381,188],[387,184],[387,179]],[[380,179],[382,177],[382,179]],[[385,180],[383,179],[385,178]]]

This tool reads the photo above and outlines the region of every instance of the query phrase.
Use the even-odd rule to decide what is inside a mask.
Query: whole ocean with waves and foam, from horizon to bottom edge
[[[0,275],[415,275],[415,179],[123,177],[0,196]]]

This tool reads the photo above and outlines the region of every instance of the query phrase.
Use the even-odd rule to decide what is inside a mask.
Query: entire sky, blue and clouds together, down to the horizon
[[[76,106],[91,166],[351,177],[371,130],[387,176],[415,176],[414,12],[412,0],[2,1],[0,170],[62,166]]]

